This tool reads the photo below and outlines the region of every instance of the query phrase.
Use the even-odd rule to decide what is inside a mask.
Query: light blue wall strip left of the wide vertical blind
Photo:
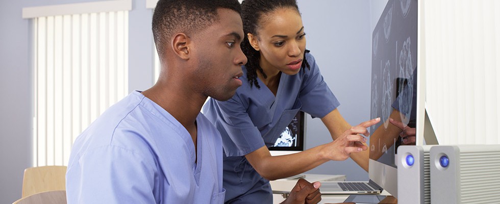
[[[0,1],[0,202],[21,197],[22,173],[31,165],[32,70],[22,1]]]

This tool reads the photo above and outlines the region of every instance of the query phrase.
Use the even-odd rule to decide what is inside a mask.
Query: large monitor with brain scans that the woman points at
[[[423,135],[419,10],[417,0],[389,0],[372,33],[371,118],[380,117],[381,122],[370,128],[369,177],[395,197],[397,147],[415,143],[404,143],[389,117],[416,129],[416,144],[421,145]]]

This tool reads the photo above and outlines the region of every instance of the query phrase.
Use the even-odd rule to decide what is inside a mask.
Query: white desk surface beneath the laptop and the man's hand
[[[305,174],[308,182],[324,182],[324,181],[345,181],[345,175],[327,175],[327,174]],[[273,203],[280,203],[285,200],[283,197],[284,192],[290,192],[290,190],[295,186],[298,179],[293,180],[283,180],[279,179],[276,181],[270,181],[271,189],[273,191],[272,198]],[[390,195],[387,191],[383,191],[381,195]],[[321,202],[319,203],[341,203],[349,197],[349,194],[344,195],[321,195]]]

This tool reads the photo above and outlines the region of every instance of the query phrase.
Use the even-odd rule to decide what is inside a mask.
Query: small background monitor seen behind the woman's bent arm
[[[285,130],[269,147],[272,156],[293,154],[304,150],[305,114],[298,111]]]

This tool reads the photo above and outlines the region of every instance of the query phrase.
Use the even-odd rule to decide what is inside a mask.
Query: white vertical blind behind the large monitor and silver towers
[[[439,144],[500,142],[500,2],[425,1],[426,109]]]

